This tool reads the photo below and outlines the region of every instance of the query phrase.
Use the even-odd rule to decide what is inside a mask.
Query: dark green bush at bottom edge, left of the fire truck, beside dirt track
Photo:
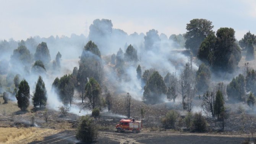
[[[96,124],[89,116],[82,116],[78,125],[76,138],[85,143],[96,141],[98,130]]]

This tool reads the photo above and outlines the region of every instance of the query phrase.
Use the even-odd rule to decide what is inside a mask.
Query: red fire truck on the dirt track
[[[121,119],[120,123],[115,126],[115,129],[117,129],[117,132],[122,131],[132,131],[133,133],[138,133],[142,131],[142,125],[141,121],[134,120],[134,119]]]

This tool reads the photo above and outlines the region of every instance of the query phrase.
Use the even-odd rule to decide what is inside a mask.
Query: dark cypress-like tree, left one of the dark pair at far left
[[[22,110],[25,111],[27,110],[29,106],[29,85],[28,82],[24,79],[21,81],[19,84],[19,91],[18,94],[16,95],[16,99],[18,100],[18,107]]]

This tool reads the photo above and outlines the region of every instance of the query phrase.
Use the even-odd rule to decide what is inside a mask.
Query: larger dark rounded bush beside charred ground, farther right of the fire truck
[[[204,132],[207,128],[207,121],[204,119],[204,116],[201,112],[194,114],[193,120],[194,131]]]

